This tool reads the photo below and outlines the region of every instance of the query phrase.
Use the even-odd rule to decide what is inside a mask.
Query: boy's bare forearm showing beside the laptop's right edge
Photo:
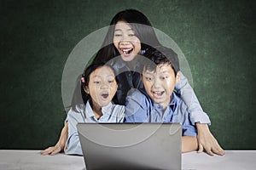
[[[182,137],[182,152],[189,152],[198,149],[197,139],[194,136]]]

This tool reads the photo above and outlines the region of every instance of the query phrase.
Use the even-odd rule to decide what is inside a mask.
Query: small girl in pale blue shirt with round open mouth
[[[78,122],[124,122],[125,106],[111,102],[117,88],[114,71],[109,65],[97,63],[87,67],[80,88],[84,103],[72,105],[67,113],[66,154],[83,155],[76,127]]]

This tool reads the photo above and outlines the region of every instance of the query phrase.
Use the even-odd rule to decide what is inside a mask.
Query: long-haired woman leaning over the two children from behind
[[[119,104],[125,105],[125,97],[131,88],[143,88],[139,73],[143,60],[139,55],[144,54],[148,47],[157,48],[160,46],[161,44],[155,36],[154,29],[148,18],[141,12],[127,9],[113,17],[102,48],[96,54],[93,63],[106,61],[117,71],[119,87],[116,97]],[[102,56],[106,57],[102,58]],[[190,119],[197,128],[199,152],[205,149],[211,156],[213,156],[212,152],[224,155],[224,150],[222,150],[209,131],[207,124],[210,124],[210,120],[207,114],[202,111],[194,90],[190,87],[187,78],[183,77],[182,74],[176,90],[181,94],[185,104],[188,105]],[[49,154],[54,155],[63,149],[65,150],[67,125],[68,122],[62,129],[61,137],[55,145],[55,150],[49,150]]]

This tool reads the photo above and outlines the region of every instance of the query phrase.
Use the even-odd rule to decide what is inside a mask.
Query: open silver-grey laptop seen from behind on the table
[[[87,170],[181,169],[180,123],[79,123]]]

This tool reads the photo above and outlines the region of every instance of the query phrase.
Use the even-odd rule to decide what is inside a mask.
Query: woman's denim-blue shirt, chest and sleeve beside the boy
[[[125,105],[125,97],[127,94],[130,94],[129,90],[131,90],[131,88],[143,89],[140,73],[140,68],[143,67],[143,59],[145,58],[137,56],[137,62],[133,69],[130,69],[120,56],[109,61],[114,71],[116,71],[117,79],[119,80],[116,97],[120,105]],[[195,125],[196,122],[199,122],[210,125],[211,121],[209,116],[202,110],[193,88],[191,88],[188,79],[184,77],[182,73],[175,89],[189,108],[189,117],[192,124]]]

